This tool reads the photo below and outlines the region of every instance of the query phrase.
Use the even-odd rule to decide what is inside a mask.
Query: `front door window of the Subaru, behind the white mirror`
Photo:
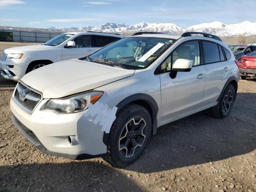
[[[160,72],[167,72],[178,59],[192,60],[193,66],[200,65],[200,48],[198,41],[191,41],[181,44],[161,64]]]

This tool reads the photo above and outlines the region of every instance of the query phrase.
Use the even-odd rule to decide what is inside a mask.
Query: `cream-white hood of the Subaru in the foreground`
[[[21,81],[41,92],[43,98],[62,98],[130,77],[134,72],[118,66],[73,59],[33,70]]]

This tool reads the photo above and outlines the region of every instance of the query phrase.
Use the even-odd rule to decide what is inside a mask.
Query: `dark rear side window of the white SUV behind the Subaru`
[[[113,37],[113,36],[92,35],[92,46],[95,48],[95,51],[96,51],[120,39],[121,38]]]

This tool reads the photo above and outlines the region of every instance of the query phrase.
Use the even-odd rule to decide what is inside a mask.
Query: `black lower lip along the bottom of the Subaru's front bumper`
[[[58,153],[58,152],[52,152],[49,151],[44,147],[44,145],[38,140],[34,132],[26,128],[14,115],[12,115],[12,122],[14,125],[18,128],[18,130],[26,137],[28,141],[30,141],[38,150],[45,154],[64,157],[64,158],[70,158],[75,160],[84,160],[84,159],[91,159],[91,158],[97,158],[97,157],[103,157],[106,154],[98,154],[98,155],[90,155],[90,154],[64,154],[64,153]]]

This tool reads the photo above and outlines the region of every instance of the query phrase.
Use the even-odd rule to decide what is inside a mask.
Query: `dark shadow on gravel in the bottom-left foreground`
[[[0,166],[0,172],[0,192],[145,191],[118,169],[100,162]]]

